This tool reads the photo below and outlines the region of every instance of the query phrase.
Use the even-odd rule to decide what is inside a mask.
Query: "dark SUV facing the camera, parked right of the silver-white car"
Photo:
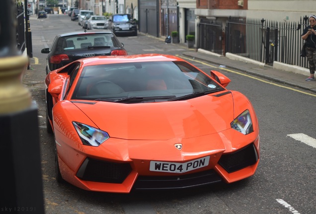
[[[132,34],[137,36],[137,23],[131,14],[115,14],[109,19],[109,29],[117,34]]]

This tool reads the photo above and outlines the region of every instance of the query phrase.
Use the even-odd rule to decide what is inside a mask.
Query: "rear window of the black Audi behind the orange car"
[[[59,40],[58,47],[62,47],[64,52],[87,49],[88,47],[118,47],[112,34],[86,34],[62,37]]]

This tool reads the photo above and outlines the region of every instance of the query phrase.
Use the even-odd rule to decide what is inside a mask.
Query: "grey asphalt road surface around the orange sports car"
[[[43,48],[56,34],[82,31],[68,15],[30,16],[33,58],[23,83],[38,105],[46,214],[315,214],[316,213],[316,99],[240,71],[222,70],[230,90],[245,94],[260,124],[260,163],[250,178],[180,191],[130,194],[88,192],[54,178],[53,136],[46,133],[45,60]],[[129,54],[161,53],[182,56],[184,46],[139,34],[118,37]],[[208,72],[218,65],[188,59]],[[293,135],[294,134],[294,135]],[[306,137],[308,136],[308,137]],[[305,139],[305,140],[304,140]],[[306,143],[306,142],[308,143]]]

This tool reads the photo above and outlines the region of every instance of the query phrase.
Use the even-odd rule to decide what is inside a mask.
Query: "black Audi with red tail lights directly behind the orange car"
[[[74,32],[57,35],[51,49],[42,49],[41,53],[48,54],[47,74],[79,58],[127,55],[123,43],[120,43],[110,31]]]

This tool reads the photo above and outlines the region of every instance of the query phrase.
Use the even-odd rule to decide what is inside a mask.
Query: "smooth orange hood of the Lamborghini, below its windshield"
[[[231,128],[234,117],[232,94],[160,103],[74,104],[110,137],[134,140],[192,138],[218,133]]]

